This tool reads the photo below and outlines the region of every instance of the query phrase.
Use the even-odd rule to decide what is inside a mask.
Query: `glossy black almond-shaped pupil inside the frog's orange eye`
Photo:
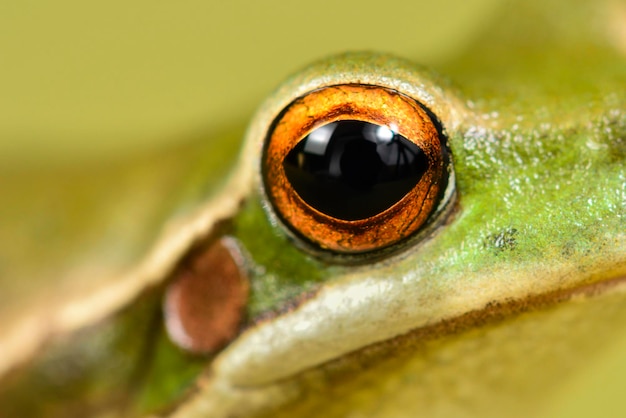
[[[315,129],[283,164],[307,204],[347,221],[393,206],[428,169],[426,155],[413,142],[389,127],[356,120]]]

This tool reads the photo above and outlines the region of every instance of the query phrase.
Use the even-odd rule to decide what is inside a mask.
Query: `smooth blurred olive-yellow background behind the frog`
[[[241,126],[286,75],[335,52],[387,51],[436,68],[502,3],[5,1],[0,166],[88,166]],[[626,336],[616,338],[546,416],[610,416],[622,404]]]

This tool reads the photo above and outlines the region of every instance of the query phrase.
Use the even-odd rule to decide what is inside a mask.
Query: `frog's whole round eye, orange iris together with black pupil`
[[[422,228],[447,185],[445,144],[429,111],[397,91],[338,85],[276,118],[263,180],[278,219],[315,247],[363,253]]]

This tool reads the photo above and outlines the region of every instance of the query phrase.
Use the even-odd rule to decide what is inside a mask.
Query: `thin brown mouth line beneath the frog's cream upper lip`
[[[239,398],[241,401],[249,399],[251,393],[258,392],[259,395],[262,393],[271,395],[272,393],[280,393],[282,390],[287,391],[289,388],[293,389],[293,385],[300,385],[298,390],[306,391],[306,385],[309,384],[307,382],[315,381],[319,376],[324,376],[324,379],[328,381],[336,381],[338,384],[343,384],[346,380],[352,378],[355,370],[365,371],[388,361],[390,353],[400,357],[410,356],[445,338],[454,339],[467,335],[472,330],[498,327],[508,323],[508,321],[515,321],[524,315],[549,312],[569,301],[586,301],[611,294],[626,293],[626,274],[623,266],[621,268],[618,267],[613,272],[615,274],[609,275],[610,278],[593,283],[530,295],[517,300],[490,302],[482,309],[472,310],[454,318],[444,319],[432,325],[413,329],[402,335],[370,344],[294,375],[258,386],[244,386],[225,382],[223,376],[220,376],[219,373],[213,374],[209,371],[208,374],[201,377],[195,389],[185,399],[181,399],[178,406],[174,407],[171,412],[174,416],[179,416],[178,414],[184,415],[185,412],[193,410],[196,402],[198,404],[202,402],[211,404],[214,400],[212,395],[223,391],[225,383],[233,404],[236,404],[236,400]],[[297,309],[299,307],[295,308],[295,310]],[[302,389],[303,386],[305,389]],[[314,392],[315,388],[312,391]],[[293,390],[291,390],[291,393],[293,393]],[[297,401],[296,397],[301,395],[302,393],[292,395],[294,398],[284,399],[284,402],[285,404],[295,402]],[[262,396],[259,396],[259,399],[261,398]],[[256,408],[263,410],[264,407],[263,402],[259,405],[251,406],[254,410]]]

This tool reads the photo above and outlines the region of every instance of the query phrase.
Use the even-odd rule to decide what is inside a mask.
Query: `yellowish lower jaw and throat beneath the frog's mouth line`
[[[581,288],[554,306],[514,316],[505,312],[506,320],[461,325],[447,336],[437,329],[409,334],[379,353],[366,351],[258,387],[231,386],[212,376],[173,416],[534,415],[586,367],[584,359],[601,354],[615,332],[626,331],[614,322],[626,323],[625,292],[623,280]],[[303,394],[304,400],[290,403]],[[276,409],[284,404],[289,406]]]

